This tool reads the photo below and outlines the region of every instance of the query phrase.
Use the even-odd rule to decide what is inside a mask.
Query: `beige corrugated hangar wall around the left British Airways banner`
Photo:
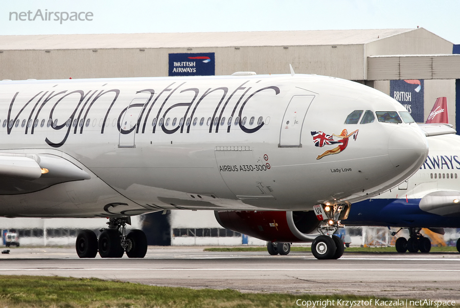
[[[193,49],[8,50],[0,53],[0,80],[162,77],[171,53],[216,54],[216,75],[239,71],[363,80],[362,45],[262,46]]]

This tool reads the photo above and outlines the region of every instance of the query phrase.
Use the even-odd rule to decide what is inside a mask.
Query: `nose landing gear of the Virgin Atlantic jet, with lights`
[[[314,206],[316,217],[321,220],[317,236],[311,244],[311,252],[320,260],[338,259],[343,255],[345,247],[343,241],[332,235],[338,228],[343,228],[340,220],[347,219],[350,212],[350,203],[319,204]]]

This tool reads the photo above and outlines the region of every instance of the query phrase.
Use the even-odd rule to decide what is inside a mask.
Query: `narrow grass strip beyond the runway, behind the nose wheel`
[[[244,252],[244,251],[267,251],[267,247],[213,247],[205,248],[203,251],[211,252],[224,252],[224,251],[233,251],[233,252]],[[291,251],[301,251],[301,252],[311,252],[310,247],[296,247],[291,246]],[[348,247],[345,249],[345,252],[396,252],[395,247]],[[431,247],[430,252],[457,252],[456,247],[447,246],[447,247]]]

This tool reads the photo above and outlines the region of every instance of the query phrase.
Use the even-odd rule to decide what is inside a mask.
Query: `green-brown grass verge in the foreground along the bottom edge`
[[[330,300],[327,307],[343,307],[337,300],[368,301],[376,298],[354,295],[306,295],[241,293],[235,290],[169,288],[96,278],[0,276],[0,305],[18,307],[109,308],[109,307],[298,307],[302,301]],[[300,301],[298,301],[300,300]],[[401,299],[400,299],[401,300]],[[404,300],[405,301],[405,300]],[[311,305],[310,305],[311,306]],[[405,303],[404,303],[405,306]],[[421,307],[422,305],[409,305]],[[423,305],[427,307],[430,305]],[[401,305],[400,307],[403,307]]]

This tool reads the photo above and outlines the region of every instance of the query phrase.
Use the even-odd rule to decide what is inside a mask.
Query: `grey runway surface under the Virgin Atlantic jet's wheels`
[[[203,252],[149,247],[143,259],[79,259],[70,248],[10,248],[3,274],[96,277],[146,285],[242,292],[355,294],[460,302],[460,253],[347,253],[317,260],[310,252]]]

